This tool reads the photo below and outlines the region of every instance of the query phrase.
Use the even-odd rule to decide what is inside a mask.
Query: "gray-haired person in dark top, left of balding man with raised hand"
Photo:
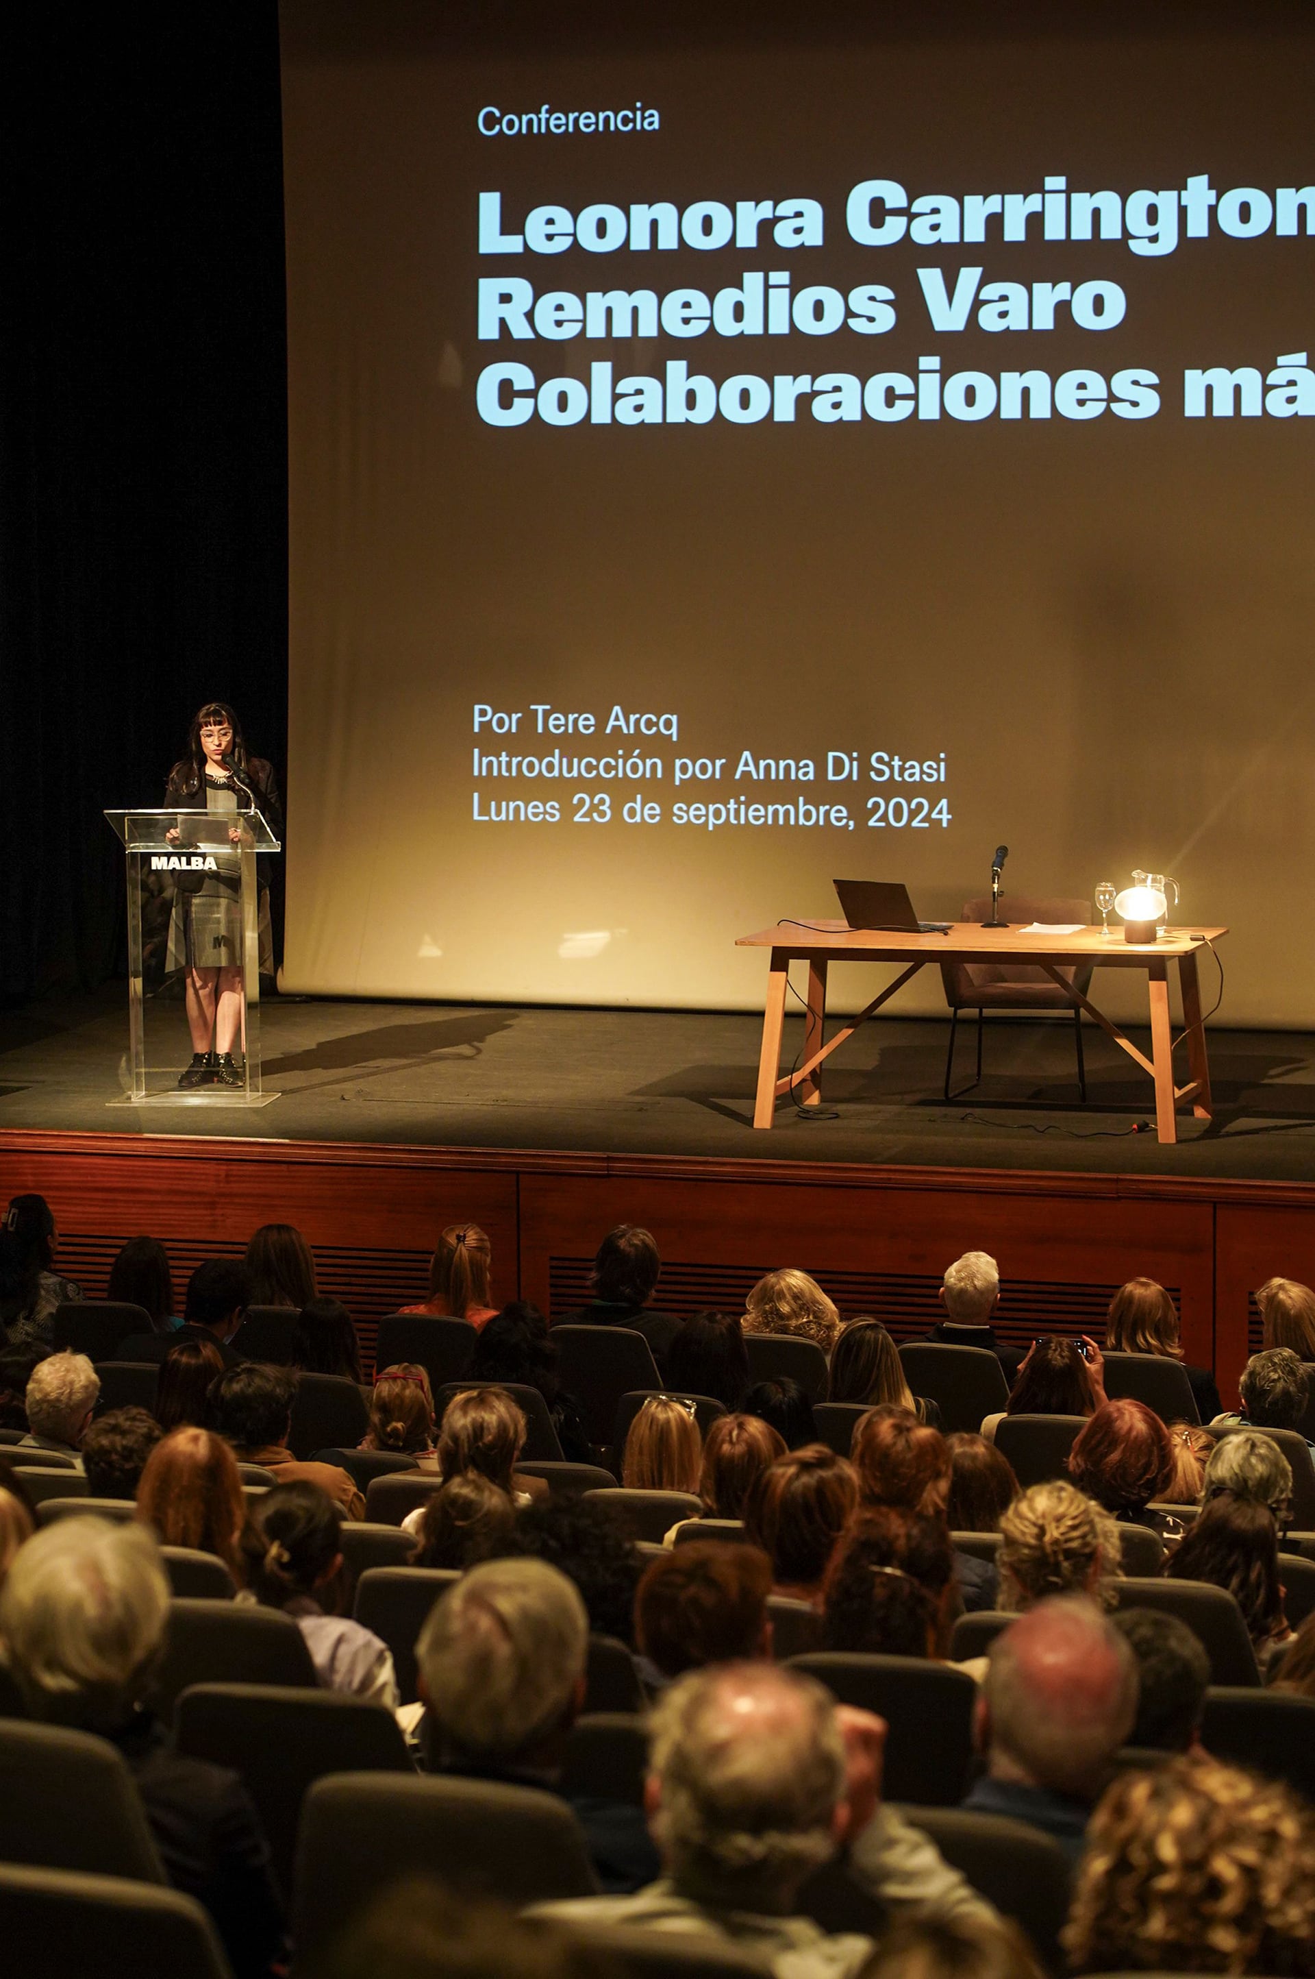
[[[542,1559],[471,1567],[429,1611],[415,1645],[429,1751],[441,1771],[560,1793],[603,1890],[639,1890],[657,1856],[637,1807],[562,1789],[566,1738],[585,1698],[589,1615]]]

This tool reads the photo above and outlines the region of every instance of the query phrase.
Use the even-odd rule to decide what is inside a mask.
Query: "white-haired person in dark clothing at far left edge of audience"
[[[123,1753],[168,1880],[212,1914],[235,1979],[269,1979],[283,1914],[247,1791],[227,1767],[176,1751],[144,1708],[168,1603],[142,1526],[61,1518],[20,1548],[0,1591],[8,1668],[32,1718]]]

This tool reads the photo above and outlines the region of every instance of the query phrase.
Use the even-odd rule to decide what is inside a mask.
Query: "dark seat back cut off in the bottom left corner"
[[[0,1862],[8,1965],[44,1979],[231,1979],[210,1912],[194,1896],[127,1876]],[[34,1953],[20,1963],[20,1945]],[[40,1945],[40,1955],[36,1947]]]

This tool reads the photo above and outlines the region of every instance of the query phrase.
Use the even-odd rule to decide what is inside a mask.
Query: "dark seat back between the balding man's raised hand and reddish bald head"
[[[838,1698],[876,1712],[888,1724],[882,1793],[923,1807],[957,1807],[973,1757],[977,1684],[961,1670],[918,1656],[866,1656],[811,1650],[793,1656]]]

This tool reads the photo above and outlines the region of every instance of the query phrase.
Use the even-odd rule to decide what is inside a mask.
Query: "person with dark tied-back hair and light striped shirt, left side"
[[[318,1484],[275,1484],[255,1506],[251,1591],[301,1629],[326,1690],[397,1710],[392,1650],[342,1603],[342,1512]]]

